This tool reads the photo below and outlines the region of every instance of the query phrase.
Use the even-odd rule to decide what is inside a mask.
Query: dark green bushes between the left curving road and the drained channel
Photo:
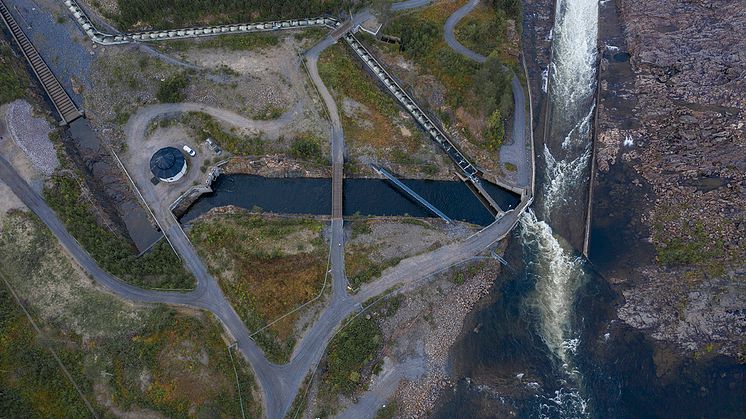
[[[76,177],[52,176],[44,198],[60,217],[67,230],[106,271],[129,283],[145,288],[186,289],[194,287],[194,278],[172,251],[161,241],[150,252],[137,257],[132,243],[96,222],[87,200],[81,196]]]

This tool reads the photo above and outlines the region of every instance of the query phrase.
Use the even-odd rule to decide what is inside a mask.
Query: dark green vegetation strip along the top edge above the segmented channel
[[[353,3],[351,0],[117,0],[119,14],[112,18],[123,30],[143,26],[171,29],[334,14],[348,10]]]

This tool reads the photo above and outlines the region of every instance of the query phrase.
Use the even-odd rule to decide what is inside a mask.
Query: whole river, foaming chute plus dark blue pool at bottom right
[[[510,238],[510,268],[467,319],[451,351],[456,385],[441,399],[436,417],[743,413],[743,370],[735,361],[682,360],[676,348],[616,319],[621,297],[603,272],[634,263],[630,255],[650,259],[652,247],[622,247],[630,243],[625,219],[594,212],[605,222],[590,254],[591,260],[599,255],[603,271],[576,250],[582,249],[588,200],[598,15],[597,0],[557,2],[536,204]],[[618,173],[617,182],[629,181],[627,172]],[[595,191],[594,201],[613,208],[608,189]]]

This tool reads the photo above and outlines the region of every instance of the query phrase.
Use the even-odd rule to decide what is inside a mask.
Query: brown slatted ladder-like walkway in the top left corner
[[[69,124],[83,116],[83,112],[75,106],[75,102],[70,99],[70,96],[65,92],[65,89],[62,87],[59,80],[57,80],[52,73],[52,70],[47,66],[47,63],[45,63],[41,58],[41,55],[39,55],[39,52],[28,39],[26,34],[23,33],[21,27],[18,26],[15,18],[2,0],[0,0],[0,17],[8,27],[10,34],[13,36],[13,40],[16,41],[18,47],[21,49],[23,56],[26,57],[31,69],[34,71],[34,75],[39,79],[41,86],[52,101],[57,113],[60,114],[62,123]]]

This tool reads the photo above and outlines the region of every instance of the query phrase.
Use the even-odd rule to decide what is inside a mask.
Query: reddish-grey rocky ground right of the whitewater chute
[[[628,282],[618,314],[686,350],[743,356],[746,4],[616,7],[623,37],[600,64],[596,163],[626,164],[641,179],[628,188],[649,186],[641,221],[656,250],[634,279],[615,278]]]

